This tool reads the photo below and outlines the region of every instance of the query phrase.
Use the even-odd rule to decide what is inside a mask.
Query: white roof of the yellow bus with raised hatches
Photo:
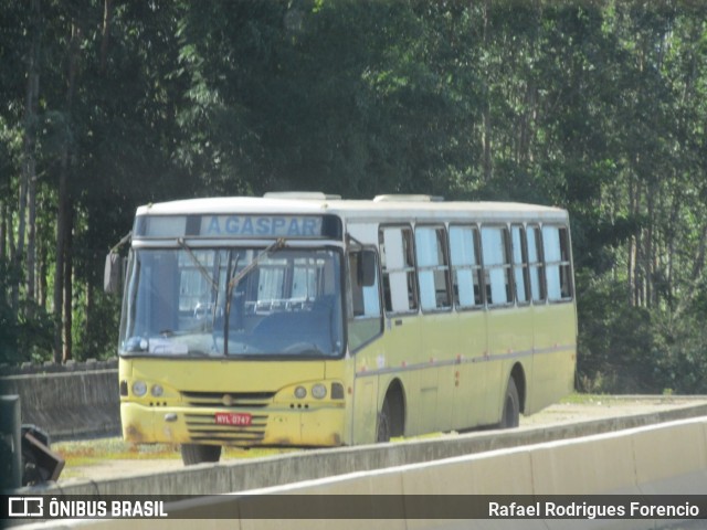
[[[190,214],[336,214],[345,222],[453,221],[471,219],[564,220],[560,208],[518,202],[441,201],[428,195],[379,195],[376,200],[341,200],[318,192],[187,199],[147,204],[137,215]]]

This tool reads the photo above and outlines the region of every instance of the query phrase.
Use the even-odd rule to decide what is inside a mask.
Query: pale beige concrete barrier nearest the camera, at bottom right
[[[672,489],[667,489],[672,488]],[[447,528],[505,530],[518,521],[500,519],[456,520],[412,517],[416,499],[434,500],[450,495],[641,495],[701,494],[707,490],[707,418],[682,420],[562,442],[496,449],[435,462],[394,466],[371,471],[305,480],[296,484],[241,491],[238,495],[196,498],[168,505],[170,516],[234,515],[228,519],[199,520],[201,529],[267,530],[330,529],[333,522],[317,518],[273,520],[250,518],[247,502],[253,495],[315,496],[315,502],[331,502],[330,496],[378,496],[374,502],[402,502],[410,517],[382,521],[336,520],[337,528]],[[415,497],[425,496],[425,497]],[[251,497],[252,498],[252,497]],[[442,498],[442,497],[441,497]],[[373,502],[373,501],[371,501]],[[196,521],[103,520],[92,528],[191,528]],[[531,519],[523,528],[538,530],[662,528],[668,521],[608,519]],[[157,526],[156,526],[157,523]],[[75,528],[87,521],[50,521],[32,529]]]

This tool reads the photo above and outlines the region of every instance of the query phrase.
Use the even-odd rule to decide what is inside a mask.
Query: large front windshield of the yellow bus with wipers
[[[274,246],[134,250],[120,354],[340,357],[340,251]]]

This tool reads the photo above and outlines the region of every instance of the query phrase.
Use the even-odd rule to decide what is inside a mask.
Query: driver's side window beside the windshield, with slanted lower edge
[[[383,331],[380,307],[378,262],[373,251],[349,253],[350,299],[348,339],[351,351]]]

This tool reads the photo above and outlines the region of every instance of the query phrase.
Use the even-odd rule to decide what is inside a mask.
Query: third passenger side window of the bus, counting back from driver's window
[[[461,309],[484,304],[478,230],[472,226],[450,226],[450,257],[454,303]]]

